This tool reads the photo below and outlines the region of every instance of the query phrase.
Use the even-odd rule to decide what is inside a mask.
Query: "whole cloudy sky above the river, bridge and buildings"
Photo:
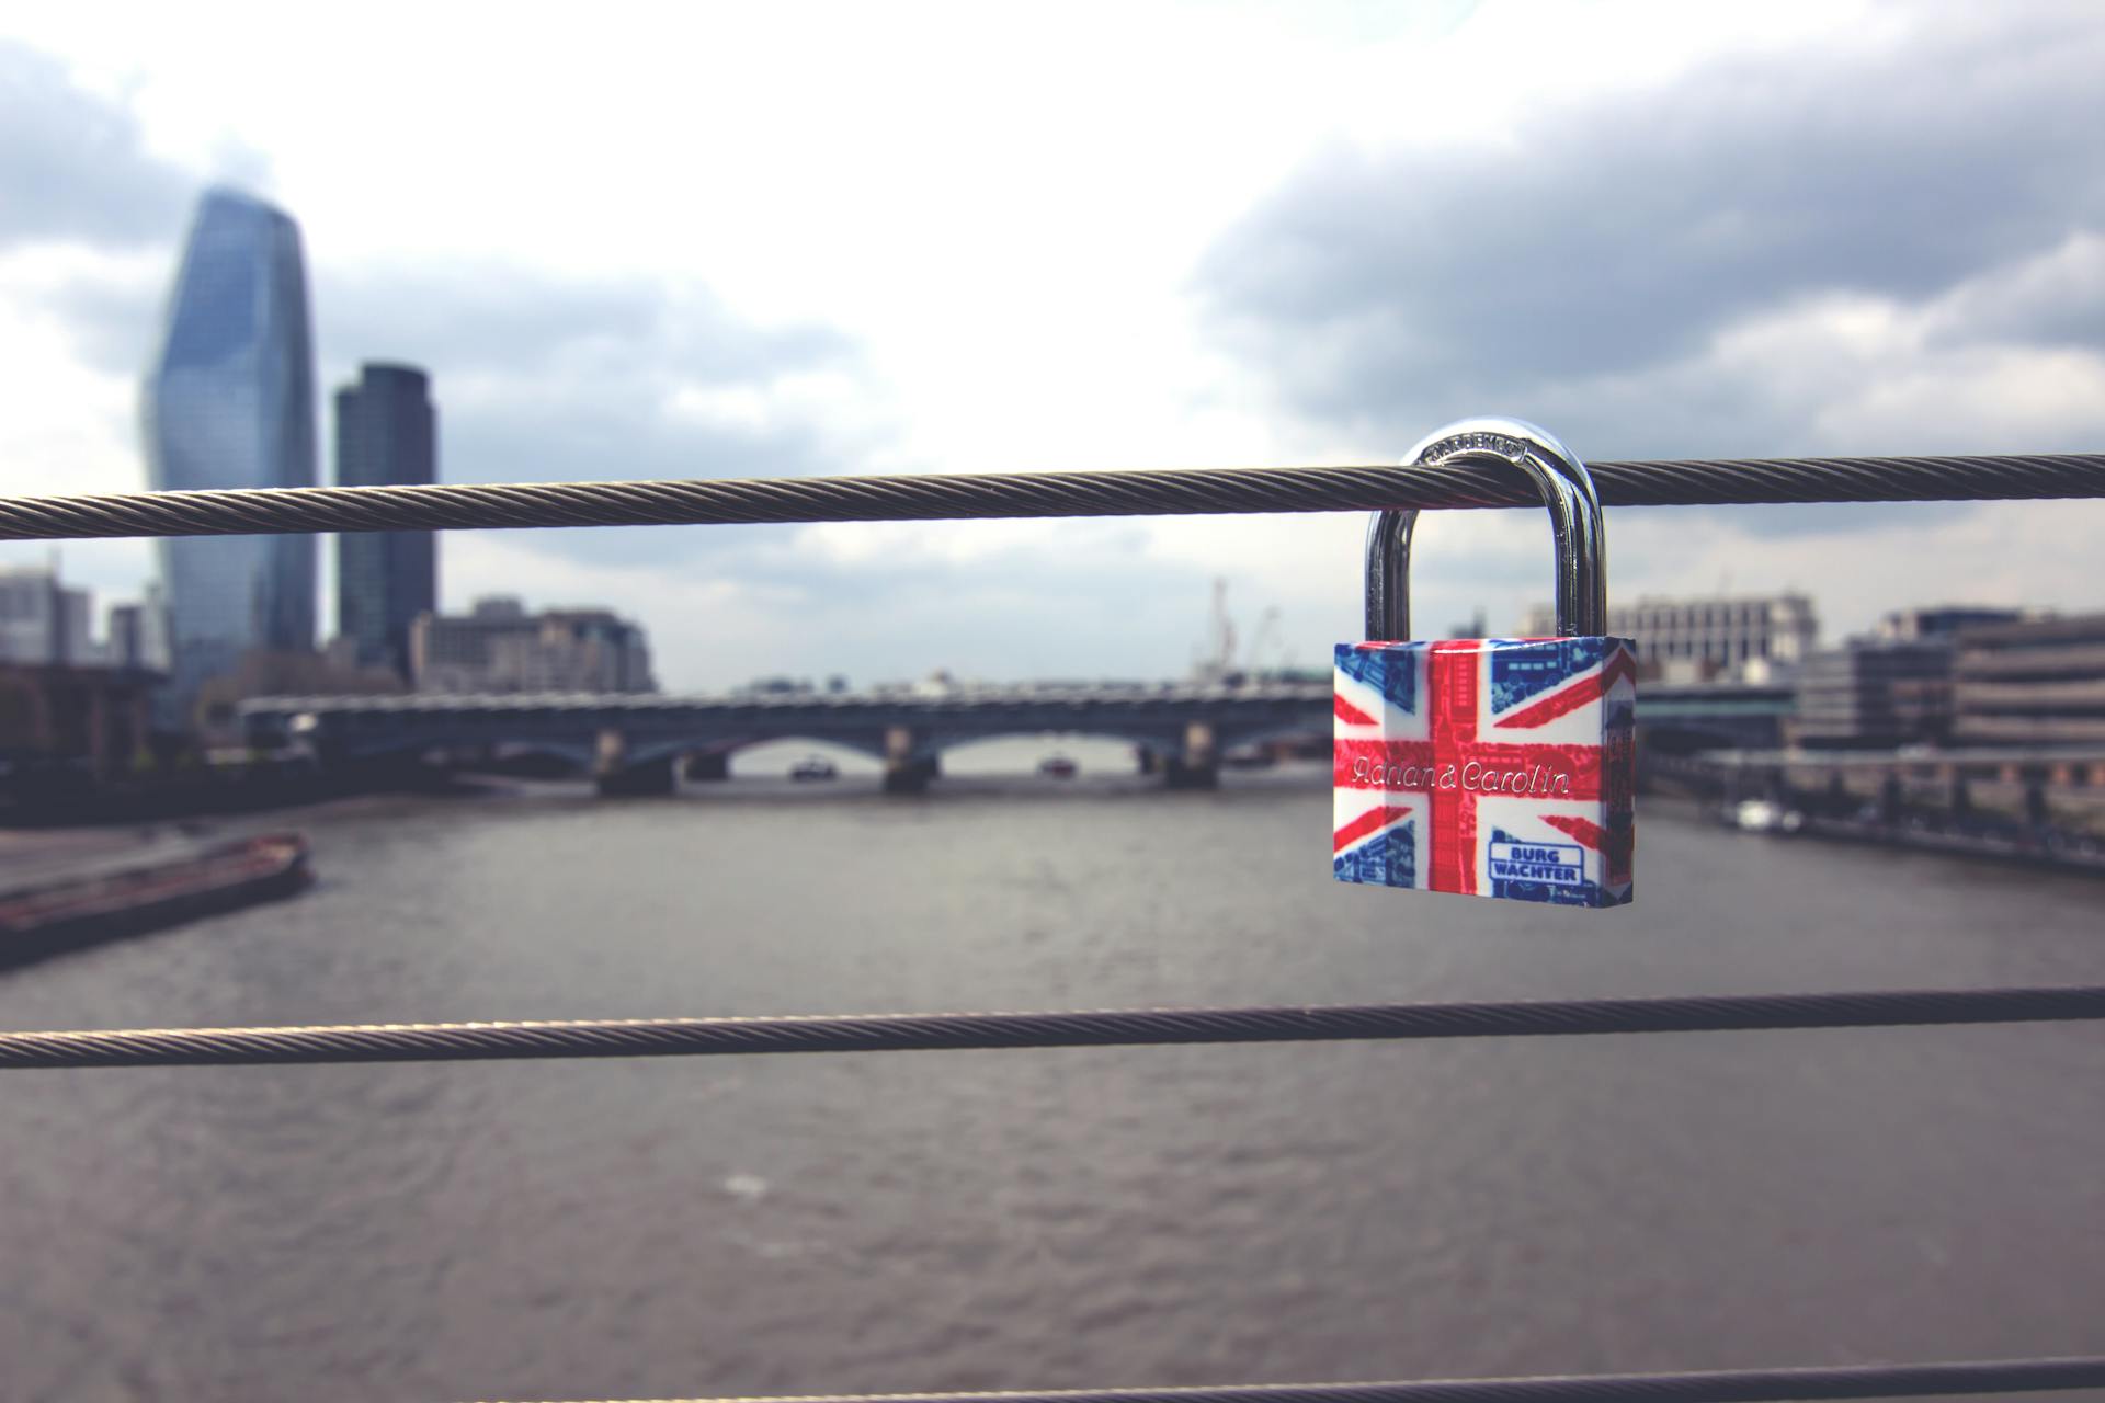
[[[448,482],[2105,448],[2097,4],[38,6],[0,21],[0,490],[143,486],[198,191],[307,240],[322,385]],[[324,398],[326,406],[326,398]],[[324,410],[326,412],[326,410]],[[330,427],[322,423],[324,471]],[[1358,629],[1364,517],[478,532],[442,595],[669,686],[1172,675]],[[2105,606],[2105,503],[1610,513],[1610,595]],[[1427,522],[1419,631],[1547,593]],[[8,545],[0,564],[42,562]],[[143,543],[67,543],[109,599]]]

